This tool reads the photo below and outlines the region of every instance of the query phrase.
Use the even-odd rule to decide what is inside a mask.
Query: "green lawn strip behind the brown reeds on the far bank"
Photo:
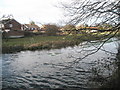
[[[73,37],[70,36],[33,36],[33,37],[25,37],[25,38],[17,38],[17,39],[3,39],[3,46],[17,46],[17,45],[31,45],[35,43],[44,43],[44,42],[52,42],[52,41],[66,41],[72,40]]]

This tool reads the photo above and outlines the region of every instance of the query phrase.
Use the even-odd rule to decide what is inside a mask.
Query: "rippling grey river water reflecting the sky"
[[[97,46],[97,45],[95,45]],[[42,51],[21,51],[14,54],[2,55],[2,86],[5,90],[34,88],[76,88],[87,89],[98,86],[90,77],[93,76],[93,67],[103,68],[103,63],[114,62],[117,53],[117,42],[108,42],[93,55],[80,59],[93,46],[67,47],[62,49]],[[80,51],[83,52],[80,52]],[[112,54],[104,52],[112,52]],[[106,61],[105,61],[106,60]],[[77,62],[74,62],[77,61]],[[74,63],[73,63],[74,62]],[[114,70],[102,71],[108,76]],[[110,68],[109,67],[109,68]],[[102,69],[101,69],[102,70]],[[94,85],[93,85],[94,84]]]

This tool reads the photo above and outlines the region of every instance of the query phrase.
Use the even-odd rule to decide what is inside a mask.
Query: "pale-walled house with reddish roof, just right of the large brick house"
[[[22,30],[35,33],[40,31],[40,27],[36,24],[23,24]]]

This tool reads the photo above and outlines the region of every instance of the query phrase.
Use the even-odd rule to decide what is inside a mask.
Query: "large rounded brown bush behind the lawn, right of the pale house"
[[[46,24],[43,28],[47,35],[57,35],[59,27],[54,24]]]

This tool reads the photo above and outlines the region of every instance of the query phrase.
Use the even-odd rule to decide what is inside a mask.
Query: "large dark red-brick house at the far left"
[[[24,32],[21,30],[21,24],[15,19],[2,19],[0,21],[0,29],[7,38],[24,37]]]

